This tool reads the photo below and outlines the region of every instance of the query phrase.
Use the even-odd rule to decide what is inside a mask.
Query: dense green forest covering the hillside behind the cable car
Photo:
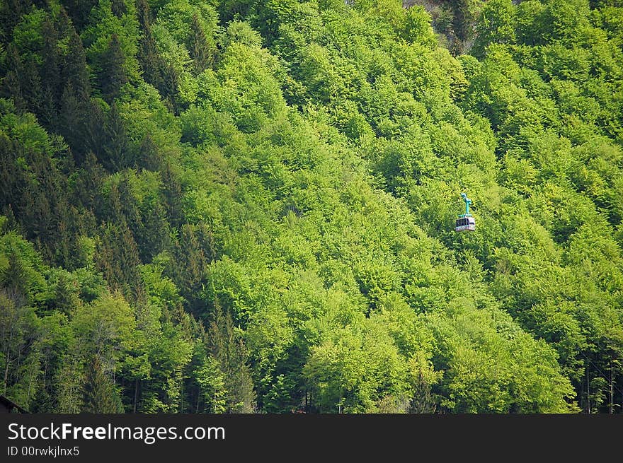
[[[622,411],[620,1],[0,4],[0,394]]]

